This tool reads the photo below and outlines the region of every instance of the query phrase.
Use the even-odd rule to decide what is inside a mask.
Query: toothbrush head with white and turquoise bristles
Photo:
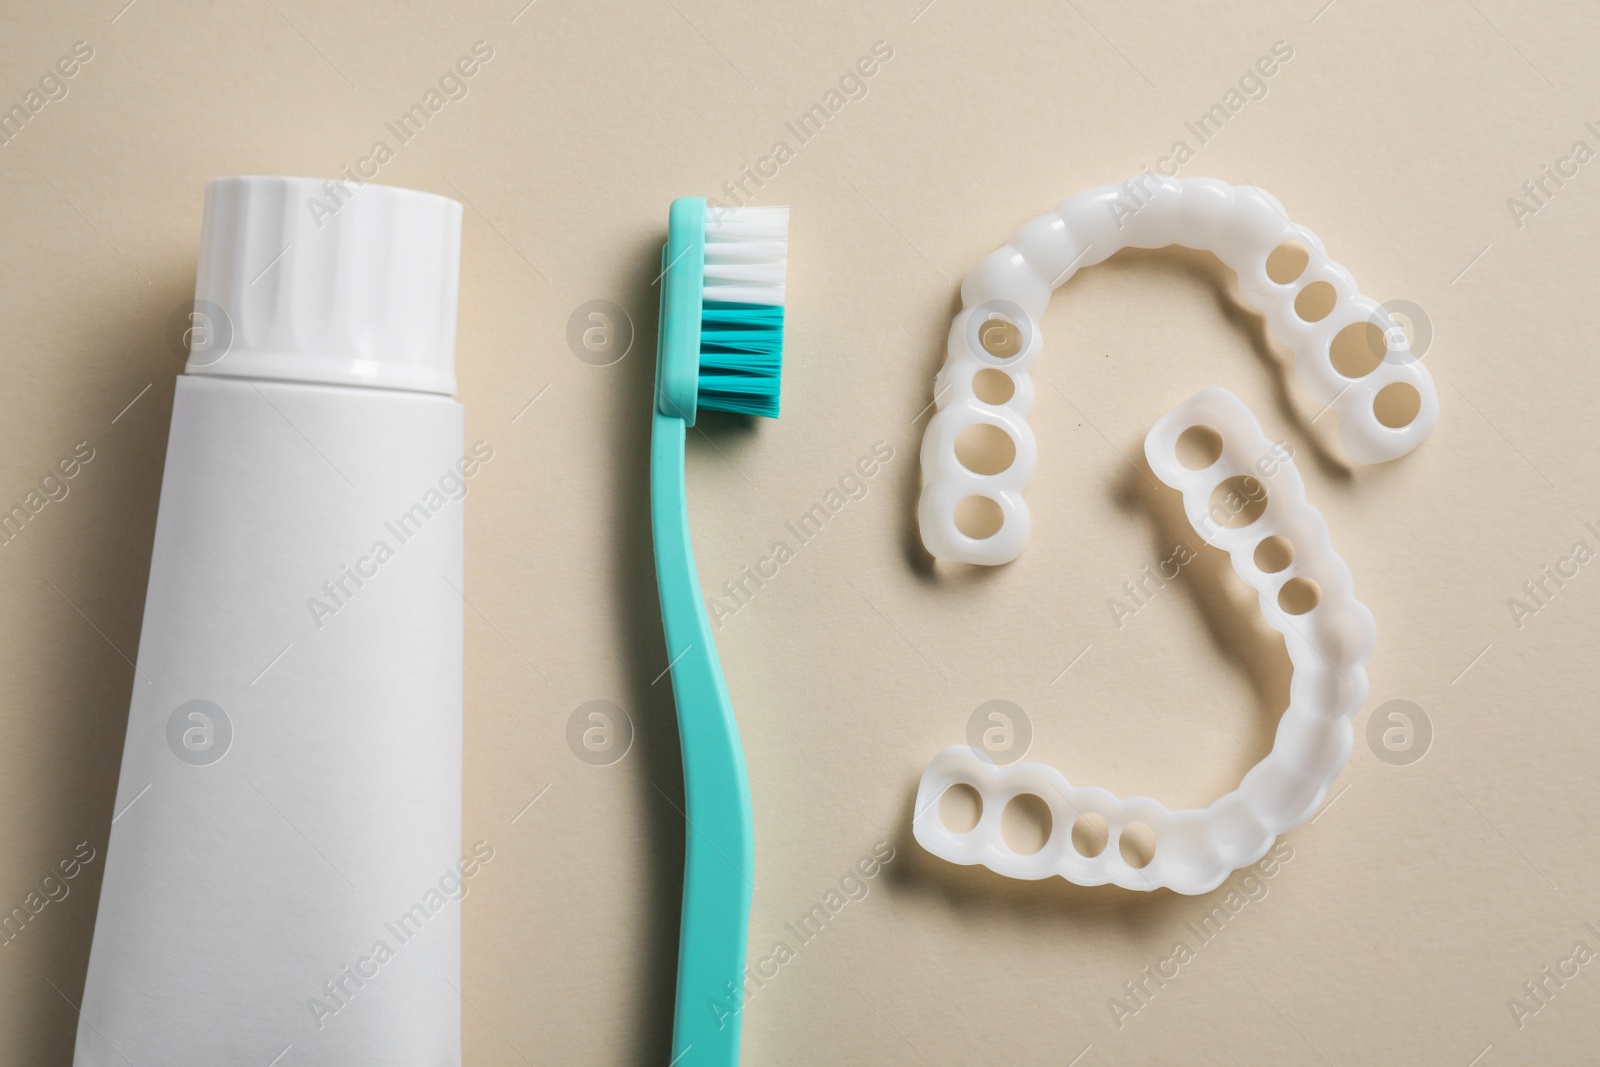
[[[778,418],[789,208],[672,202],[661,253],[656,406]]]

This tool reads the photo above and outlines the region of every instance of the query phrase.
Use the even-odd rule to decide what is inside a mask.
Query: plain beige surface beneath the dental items
[[[875,442],[896,456],[717,635],[755,797],[754,950],[875,843],[896,849],[750,1001],[747,1062],[1592,1062],[1600,965],[1522,1027],[1507,1000],[1574,941],[1600,950],[1600,574],[1520,629],[1507,600],[1576,541],[1600,549],[1600,163],[1522,227],[1507,198],[1574,141],[1600,149],[1600,19],[922,2],[8,3],[0,102],[74,42],[94,58],[0,147],[0,498],[77,442],[96,458],[0,550],[0,905],[78,841],[104,856],[181,366],[163,334],[205,179],[333,176],[483,40],[467,98],[379,176],[469,205],[461,400],[496,448],[467,512],[466,833],[496,859],[464,905],[466,1062],[666,1064],[682,779],[645,498],[666,206],[794,147],[784,123],[885,42],[867,96],[757,195],[794,205],[784,418],[707,421],[690,450],[710,587]],[[1032,547],[995,573],[934,568],[918,414],[962,274],[1066,195],[1195,147],[1184,122],[1280,40],[1294,54],[1266,98],[1182,174],[1269,189],[1365,293],[1426,309],[1438,430],[1350,470],[1226,270],[1125,254],[1043,323]],[[637,326],[611,366],[566,344],[592,299]],[[1202,944],[1189,923],[1221,894],[1006,881],[926,856],[907,821],[926,760],[989,699],[1019,704],[1032,755],[1070,779],[1170,805],[1206,803],[1270,744],[1286,659],[1216,553],[1120,629],[1107,608],[1192,536],[1133,464],[1211,384],[1296,450],[1379,643],[1342,792]],[[637,723],[613,766],[568,749],[589,699]],[[1392,699],[1432,723],[1421,761],[1366,742]],[[101,859],[0,947],[0,1062],[69,1062]],[[1118,1029],[1109,998],[1178,941],[1195,958]]]

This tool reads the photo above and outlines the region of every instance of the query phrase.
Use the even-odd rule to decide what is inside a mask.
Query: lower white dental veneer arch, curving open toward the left
[[[1178,458],[1178,438],[1192,427],[1210,427],[1222,440],[1221,454],[1200,470]],[[1294,678],[1272,752],[1210,808],[1168,811],[1149,797],[1122,800],[1072,785],[1043,763],[994,766],[973,749],[952,745],[934,757],[917,787],[912,832],[934,856],[1011,878],[1059,875],[1085,886],[1110,881],[1125,889],[1210,893],[1261,859],[1277,835],[1310,817],[1344,769],[1350,720],[1366,699],[1376,627],[1355,598],[1328,525],[1306,502],[1294,462],[1262,437],[1250,410],[1226,389],[1206,389],[1163,416],[1144,438],[1144,454],[1155,475],[1184,494],[1195,533],[1229,553],[1256,590],[1267,624],[1283,635]],[[1232,491],[1218,493],[1224,483]],[[1261,514],[1235,526],[1256,512],[1262,491]],[[966,833],[952,832],[939,816],[939,798],[952,785],[970,785],[982,800],[978,825]],[[1024,793],[1043,800],[1051,816],[1050,840],[1032,856],[1013,851],[1000,833],[1002,813]],[[1106,821],[1107,840],[1088,856],[1074,843],[1072,827],[1091,814]],[[1122,833],[1136,822],[1155,832],[1155,851],[1144,865],[1128,862],[1120,848]]]

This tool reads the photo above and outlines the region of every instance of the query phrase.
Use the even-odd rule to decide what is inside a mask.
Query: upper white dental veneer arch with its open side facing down
[[[938,411],[922,445],[925,488],[918,523],[933,555],[994,566],[1022,553],[1029,533],[1022,490],[1037,459],[1027,427],[1034,403],[1029,371],[1038,360],[1038,322],[1050,293],[1078,269],[1123,248],[1166,245],[1208,250],[1234,269],[1243,299],[1294,349],[1294,370],[1312,402],[1338,414],[1339,440],[1350,459],[1360,464],[1395,459],[1434,429],[1438,395],[1434,379],[1411,354],[1405,331],[1378,301],[1357,291],[1350,274],[1328,259],[1315,234],[1290,222],[1274,197],[1214,178],[1146,174],[1122,186],[1101,186],[1024,226],[962,282],[962,310],[950,323],[947,357],[934,382]],[[1302,246],[1306,266],[1294,272],[1293,256],[1285,256],[1288,267],[1275,262],[1272,275],[1280,280],[1274,280],[1267,259],[1283,245]],[[1354,338],[1342,341],[1341,349],[1350,341],[1365,347],[1371,344],[1373,326],[1384,341],[1382,360],[1358,378],[1334,370],[1334,338],[1350,330]],[[974,389],[979,374],[986,387]],[[1010,398],[994,400],[1006,387]],[[1398,427],[1386,426],[1376,410],[1378,395],[1390,387],[1397,394],[1411,389],[1419,400],[1411,421]],[[981,475],[960,464],[955,438],[974,422],[990,422],[1011,435],[1016,446],[1011,467]],[[1000,507],[1002,523],[992,536],[970,537],[955,525],[957,506],[974,496]]]

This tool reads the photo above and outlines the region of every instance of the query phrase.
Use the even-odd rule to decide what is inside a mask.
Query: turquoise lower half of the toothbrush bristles
[[[702,302],[699,406],[776,419],[782,354],[781,306]]]

